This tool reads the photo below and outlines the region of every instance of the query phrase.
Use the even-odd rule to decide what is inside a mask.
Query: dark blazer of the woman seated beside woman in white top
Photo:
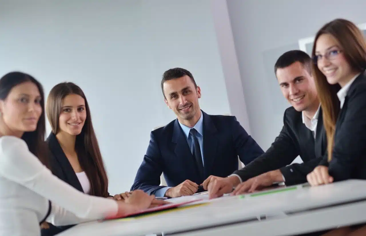
[[[79,182],[78,177],[75,174],[74,169],[72,169],[72,166],[70,162],[68,161],[66,155],[64,154],[59,141],[56,138],[56,135],[51,132],[51,134],[48,136],[46,142],[48,143],[48,148],[51,151],[50,156],[50,164],[51,164],[51,170],[52,174],[56,175],[59,179],[62,181],[68,183],[75,189],[84,192],[83,188]],[[74,225],[66,225],[66,226],[54,226],[50,223],[49,229],[42,229],[41,235],[42,236],[51,236],[56,235],[57,233],[60,233],[68,228],[71,228]]]

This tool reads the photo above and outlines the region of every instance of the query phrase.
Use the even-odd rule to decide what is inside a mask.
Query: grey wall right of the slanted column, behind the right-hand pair
[[[289,104],[275,83],[273,65],[298,49],[324,23],[346,18],[366,22],[365,0],[227,0],[251,135],[266,149],[279,134]]]

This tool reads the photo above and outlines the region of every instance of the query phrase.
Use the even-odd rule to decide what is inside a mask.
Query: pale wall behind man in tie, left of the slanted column
[[[0,75],[30,73],[46,94],[61,81],[81,86],[109,191],[129,190],[150,131],[175,119],[161,94],[165,70],[190,70],[202,89],[201,108],[230,113],[209,4],[0,0]]]

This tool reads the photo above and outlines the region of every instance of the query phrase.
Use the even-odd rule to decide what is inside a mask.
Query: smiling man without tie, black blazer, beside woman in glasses
[[[243,169],[227,178],[210,176],[203,182],[209,197],[224,193],[251,192],[276,182],[294,185],[306,182],[306,175],[321,161],[326,150],[322,112],[311,75],[311,58],[305,52],[292,50],[279,57],[275,74],[281,92],[292,107],[283,117],[283,128],[270,148]],[[300,155],[303,163],[292,164]]]

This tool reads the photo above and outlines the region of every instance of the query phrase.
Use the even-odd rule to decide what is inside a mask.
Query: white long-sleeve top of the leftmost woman
[[[0,236],[39,236],[40,221],[70,225],[117,213],[115,200],[89,196],[42,165],[24,140],[0,137]]]

